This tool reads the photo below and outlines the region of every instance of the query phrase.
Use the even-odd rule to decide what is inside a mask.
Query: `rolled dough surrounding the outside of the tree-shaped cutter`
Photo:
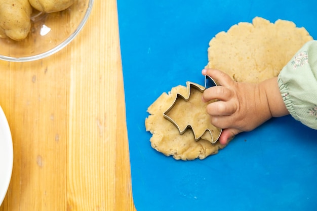
[[[187,87],[177,86],[172,88],[168,94],[163,93],[148,107],[147,112],[150,115],[145,119],[146,131],[152,134],[151,146],[166,156],[172,155],[177,160],[204,159],[211,154],[218,153],[218,150],[224,147],[219,142],[212,144],[203,138],[195,141],[191,130],[186,130],[183,135],[180,135],[176,126],[164,118],[163,113],[173,104],[177,93],[186,96],[188,86],[187,82]]]

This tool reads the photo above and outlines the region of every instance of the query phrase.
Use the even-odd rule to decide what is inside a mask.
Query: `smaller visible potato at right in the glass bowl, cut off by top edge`
[[[29,0],[29,2],[38,11],[53,13],[69,8],[74,0]]]

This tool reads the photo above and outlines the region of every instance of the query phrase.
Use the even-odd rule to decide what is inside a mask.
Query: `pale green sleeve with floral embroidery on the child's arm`
[[[317,41],[306,43],[278,76],[284,103],[290,114],[317,130]]]

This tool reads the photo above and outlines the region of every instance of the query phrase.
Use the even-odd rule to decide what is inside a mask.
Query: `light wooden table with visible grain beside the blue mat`
[[[135,210],[115,0],[63,50],[0,61],[14,165],[0,211]]]

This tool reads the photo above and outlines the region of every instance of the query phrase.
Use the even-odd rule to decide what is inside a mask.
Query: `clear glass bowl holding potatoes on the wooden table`
[[[0,38],[0,59],[13,62],[48,57],[67,46],[81,31],[91,13],[94,0],[75,0],[68,9],[42,13],[33,9],[31,31],[20,41]]]

